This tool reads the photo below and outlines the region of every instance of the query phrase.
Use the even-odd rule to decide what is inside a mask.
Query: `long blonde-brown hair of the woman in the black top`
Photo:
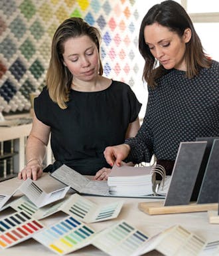
[[[100,31],[96,27],[90,26],[83,19],[72,17],[66,19],[56,32],[52,39],[52,49],[50,63],[46,74],[46,85],[50,98],[65,109],[66,102],[69,100],[69,92],[72,84],[72,73],[64,66],[63,56],[64,43],[70,38],[76,38],[86,35],[96,44],[100,58]],[[100,61],[99,74],[103,74],[102,62]]]

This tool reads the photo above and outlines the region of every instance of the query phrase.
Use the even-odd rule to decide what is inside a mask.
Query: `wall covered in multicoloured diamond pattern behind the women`
[[[54,31],[68,17],[100,29],[104,75],[134,86],[141,76],[135,0],[1,0],[0,112],[31,108],[29,94],[45,85]]]

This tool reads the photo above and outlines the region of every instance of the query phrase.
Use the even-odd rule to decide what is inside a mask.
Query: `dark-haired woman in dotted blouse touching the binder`
[[[180,142],[219,136],[219,63],[208,57],[190,17],[175,1],[154,5],[141,23],[139,51],[149,98],[134,138],[106,148],[112,166],[155,155],[171,174]]]

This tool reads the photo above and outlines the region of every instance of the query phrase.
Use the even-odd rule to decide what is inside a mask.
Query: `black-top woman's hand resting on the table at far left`
[[[27,166],[18,174],[20,180],[27,180],[27,178],[37,180],[40,176],[42,176],[42,166],[37,160],[31,161],[30,164],[27,164]]]

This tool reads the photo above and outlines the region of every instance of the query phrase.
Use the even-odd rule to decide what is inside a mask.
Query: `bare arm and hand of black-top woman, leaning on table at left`
[[[19,179],[32,178],[36,180],[42,175],[42,160],[46,153],[49,135],[50,126],[40,122],[34,114],[33,126],[26,146],[27,166],[19,172]]]

